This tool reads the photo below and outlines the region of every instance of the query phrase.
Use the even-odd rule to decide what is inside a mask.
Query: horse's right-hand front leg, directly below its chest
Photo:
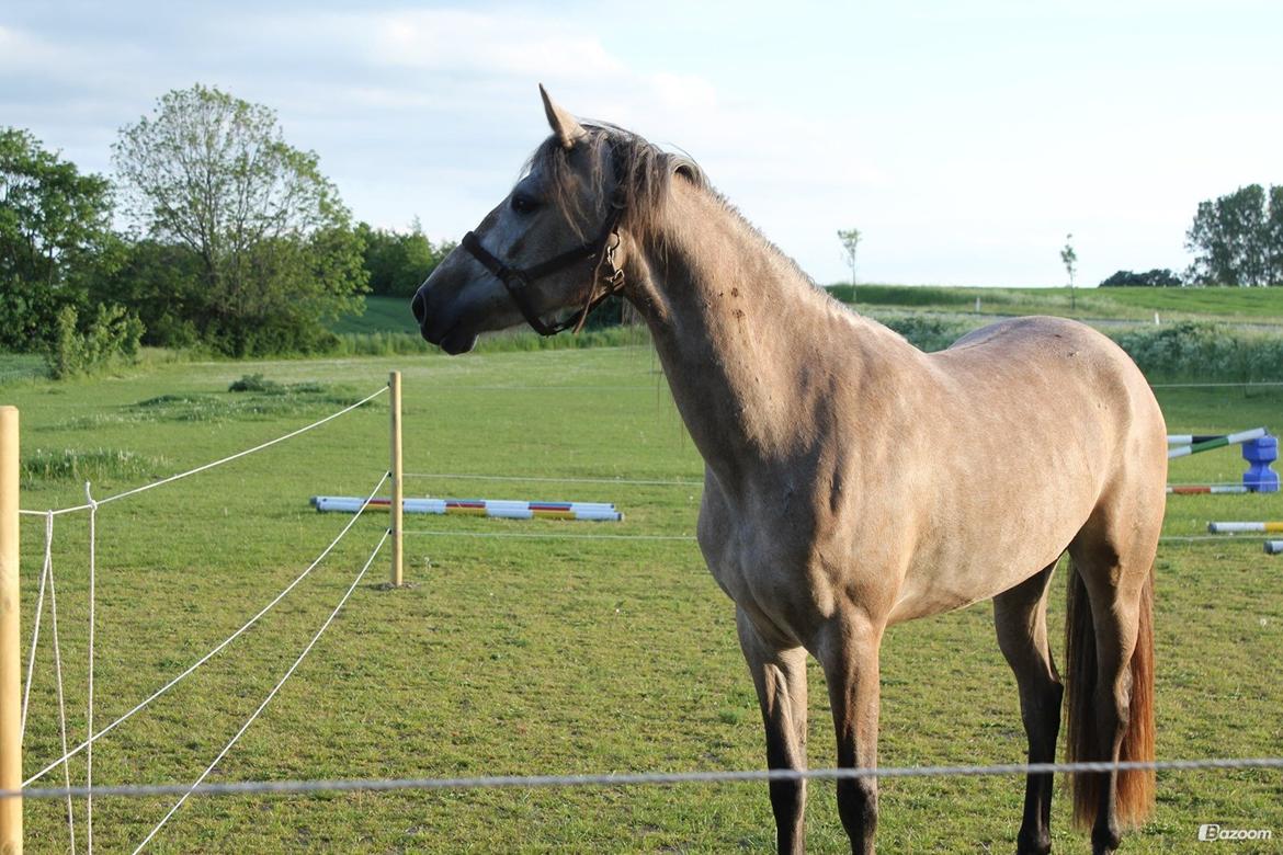
[[[878,765],[881,635],[880,623],[856,614],[835,617],[821,636],[817,659],[829,685],[839,768],[872,769]],[[838,815],[851,838],[851,851],[871,855],[878,828],[878,779],[839,779]]]

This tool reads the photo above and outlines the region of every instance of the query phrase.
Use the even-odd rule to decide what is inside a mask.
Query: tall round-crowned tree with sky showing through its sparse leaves
[[[198,281],[176,285],[190,297],[182,320],[216,349],[313,350],[325,320],[359,310],[367,276],[350,214],[271,109],[200,85],[174,90],[113,150],[133,218],[194,254]]]

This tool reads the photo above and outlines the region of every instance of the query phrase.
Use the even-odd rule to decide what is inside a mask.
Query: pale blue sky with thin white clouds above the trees
[[[1064,286],[1189,263],[1197,205],[1283,183],[1283,4],[0,4],[0,126],[112,173],[217,86],[277,112],[357,219],[458,240],[571,113],[693,156],[820,283]]]

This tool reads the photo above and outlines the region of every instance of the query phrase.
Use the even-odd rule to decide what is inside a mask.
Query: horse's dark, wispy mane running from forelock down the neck
[[[585,237],[580,224],[586,217],[585,212],[580,210],[579,197],[572,191],[568,179],[574,170],[571,158],[582,151],[589,155],[588,179],[594,196],[606,192],[609,169],[607,164],[613,164],[615,203],[622,206],[620,224],[635,238],[643,242],[657,237],[662,238],[659,227],[663,222],[670,188],[675,178],[681,178],[716,199],[722,209],[761,244],[765,251],[781,260],[786,268],[812,288],[821,291],[815,281],[798,267],[797,261],[767,240],[757,227],[744,218],[739,209],[713,188],[704,170],[693,159],[665,151],[644,137],[608,122],[584,122],[581,127],[585,136],[575,142],[572,150],[567,151],[556,135],[549,136],[530,155],[523,170],[529,173],[538,168],[547,176],[552,204],[562,212],[580,237]]]

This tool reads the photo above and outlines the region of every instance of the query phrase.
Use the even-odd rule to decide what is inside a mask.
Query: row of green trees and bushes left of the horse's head
[[[323,351],[363,294],[409,296],[453,249],[354,223],[316,153],[217,88],[164,95],[112,160],[114,182],[0,128],[0,350],[54,373],[140,344]]]

